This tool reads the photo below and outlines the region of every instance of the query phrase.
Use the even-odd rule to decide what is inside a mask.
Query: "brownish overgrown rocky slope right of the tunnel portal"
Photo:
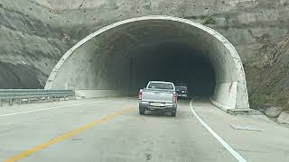
[[[289,35],[276,44],[268,43],[272,47],[264,56],[245,66],[250,103],[256,108],[281,106],[289,110]]]

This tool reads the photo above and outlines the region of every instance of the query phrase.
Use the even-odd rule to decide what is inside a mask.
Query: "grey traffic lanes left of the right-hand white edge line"
[[[0,118],[1,158],[61,162],[234,161],[193,117],[189,103],[180,103],[176,118],[155,113],[141,116],[137,100],[128,98],[64,103],[68,107],[63,103],[40,103],[31,105],[33,108],[13,108],[23,113],[7,110],[12,115]]]

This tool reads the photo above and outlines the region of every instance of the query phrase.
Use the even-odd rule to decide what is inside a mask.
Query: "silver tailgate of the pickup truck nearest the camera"
[[[144,90],[143,101],[147,102],[159,102],[159,103],[172,103],[173,92]]]

